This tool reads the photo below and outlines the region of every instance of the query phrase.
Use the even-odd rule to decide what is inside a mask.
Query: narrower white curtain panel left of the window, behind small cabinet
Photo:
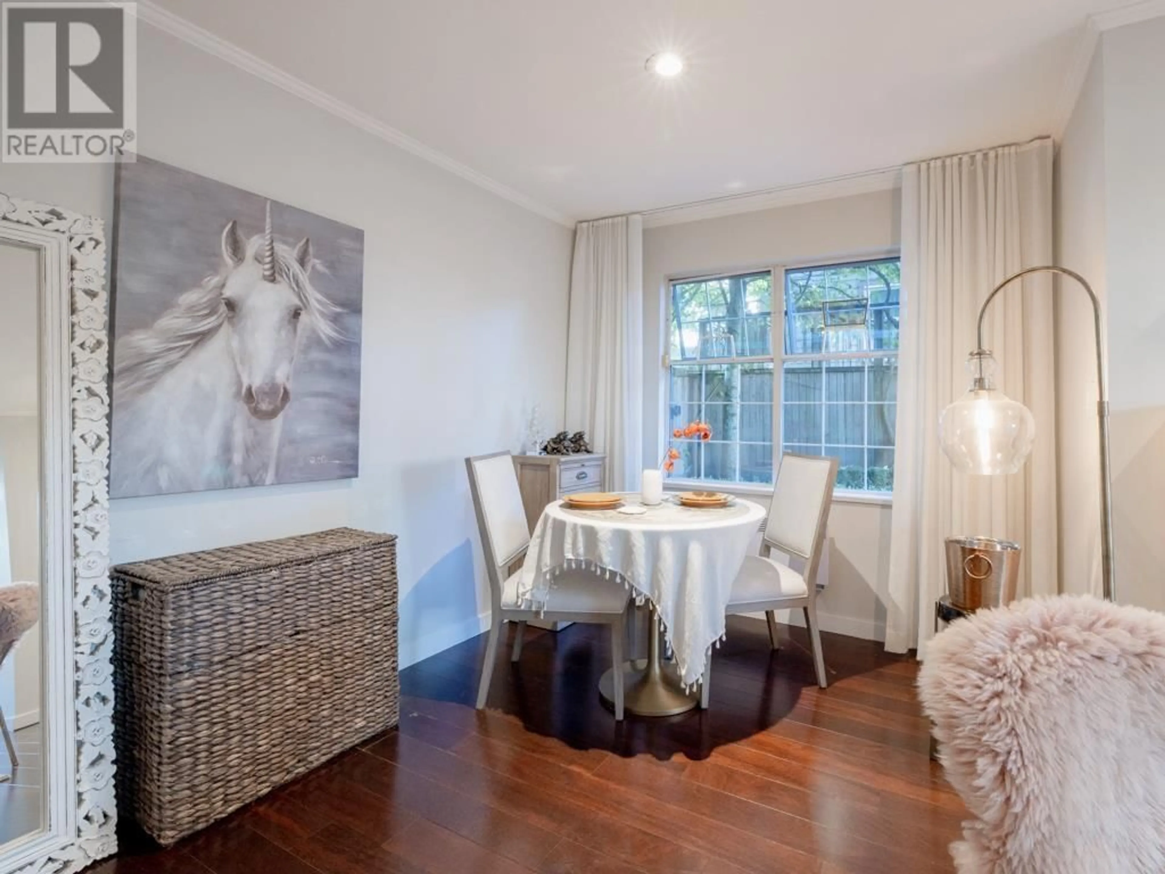
[[[574,231],[566,343],[566,428],[607,454],[608,486],[636,491],[643,468],[643,218]]]

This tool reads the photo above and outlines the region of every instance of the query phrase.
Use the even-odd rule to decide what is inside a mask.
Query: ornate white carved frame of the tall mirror
[[[110,601],[110,338],[99,219],[0,193],[0,241],[41,258],[44,829],[0,872],[73,872],[116,850]]]

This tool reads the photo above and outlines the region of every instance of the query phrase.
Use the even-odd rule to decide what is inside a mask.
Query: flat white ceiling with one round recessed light
[[[1128,0],[155,3],[579,219],[1054,133],[1088,15]]]

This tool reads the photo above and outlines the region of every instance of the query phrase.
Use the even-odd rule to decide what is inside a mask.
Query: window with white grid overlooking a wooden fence
[[[672,475],[772,482],[776,435],[784,451],[836,457],[839,488],[891,491],[899,291],[897,258],[672,281]],[[672,439],[693,420],[711,440]]]

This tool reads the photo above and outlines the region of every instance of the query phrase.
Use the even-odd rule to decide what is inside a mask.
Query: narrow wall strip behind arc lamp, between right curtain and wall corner
[[[1055,157],[1055,263],[1107,299],[1104,213],[1104,58],[1093,57]],[[1057,475],[1060,591],[1101,593],[1100,449],[1093,308],[1075,282],[1055,299]]]

